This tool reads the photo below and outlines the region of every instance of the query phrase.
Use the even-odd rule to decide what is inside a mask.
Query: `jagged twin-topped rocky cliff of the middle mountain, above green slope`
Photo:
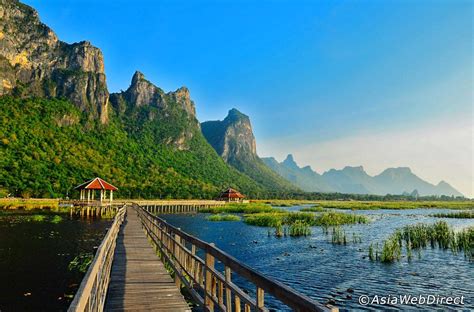
[[[200,134],[194,102],[186,87],[165,93],[137,71],[126,91],[110,94],[110,102],[119,117],[140,120],[142,130],[153,129],[157,143],[187,150],[196,133]]]

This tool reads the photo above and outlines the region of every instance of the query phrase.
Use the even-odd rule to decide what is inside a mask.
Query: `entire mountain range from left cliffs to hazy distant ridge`
[[[322,175],[261,159],[250,118],[231,109],[200,123],[190,91],[165,92],[136,71],[109,93],[104,58],[69,44],[17,0],[0,0],[0,197],[61,197],[100,176],[123,197],[213,198],[234,187],[249,197],[344,192],[460,195],[408,168],[371,177],[362,167]]]

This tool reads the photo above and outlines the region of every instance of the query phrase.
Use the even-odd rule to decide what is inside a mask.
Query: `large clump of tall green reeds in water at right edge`
[[[403,247],[409,261],[413,257],[413,251],[418,251],[421,257],[421,250],[428,247],[449,249],[455,254],[464,252],[466,258],[474,260],[474,227],[455,232],[445,221],[407,225],[397,229],[385,240],[380,258],[376,257],[375,260],[386,263],[398,261],[402,257]],[[372,245],[369,248],[369,258],[373,260]]]

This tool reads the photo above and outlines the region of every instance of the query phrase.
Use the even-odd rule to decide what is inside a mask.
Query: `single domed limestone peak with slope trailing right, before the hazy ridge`
[[[202,133],[224,161],[271,189],[297,188],[273,172],[257,155],[250,118],[233,108],[224,120],[206,121]]]

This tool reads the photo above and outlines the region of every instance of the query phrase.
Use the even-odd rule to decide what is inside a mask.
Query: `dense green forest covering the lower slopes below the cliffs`
[[[0,97],[0,187],[16,196],[65,197],[100,176],[119,188],[118,197],[213,198],[228,186],[265,193],[226,165],[182,110],[168,112],[172,122],[156,110],[111,114],[100,125],[64,100]],[[189,128],[188,148],[167,144]]]

